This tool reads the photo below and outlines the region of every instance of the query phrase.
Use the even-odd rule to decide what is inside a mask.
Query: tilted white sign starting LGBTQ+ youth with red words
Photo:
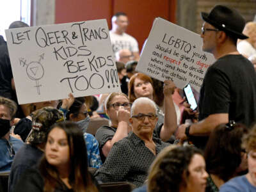
[[[202,51],[200,35],[157,18],[136,70],[160,81],[171,79],[179,88],[190,83],[199,92],[214,61],[212,54]]]

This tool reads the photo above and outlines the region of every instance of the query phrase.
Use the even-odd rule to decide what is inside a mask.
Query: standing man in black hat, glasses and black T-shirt
[[[210,13],[200,13],[202,50],[211,52],[216,62],[208,68],[200,90],[199,122],[180,125],[176,136],[204,148],[207,136],[229,120],[250,126],[256,120],[256,75],[252,63],[236,48],[237,38],[245,39],[245,20],[227,6],[217,5]]]

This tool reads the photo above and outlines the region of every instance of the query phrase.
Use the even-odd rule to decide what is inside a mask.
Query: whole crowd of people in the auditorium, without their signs
[[[109,31],[122,92],[100,97],[19,105],[0,36],[0,173],[9,173],[8,191],[102,191],[100,184],[122,181],[136,192],[256,191],[256,22],[222,5],[200,15],[202,50],[216,61],[196,110],[172,81],[136,72],[140,51],[125,33],[125,13]],[[109,125],[88,133],[99,116]]]

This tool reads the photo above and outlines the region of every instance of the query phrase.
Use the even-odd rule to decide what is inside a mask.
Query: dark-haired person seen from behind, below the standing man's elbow
[[[234,121],[218,125],[212,131],[204,151],[209,173],[206,192],[219,191],[222,184],[247,169],[246,154],[241,147],[241,138],[246,132],[243,124]]]

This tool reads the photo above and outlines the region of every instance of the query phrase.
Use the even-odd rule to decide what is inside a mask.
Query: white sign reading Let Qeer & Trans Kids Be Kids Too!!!
[[[120,92],[105,19],[6,30],[19,104]]]

